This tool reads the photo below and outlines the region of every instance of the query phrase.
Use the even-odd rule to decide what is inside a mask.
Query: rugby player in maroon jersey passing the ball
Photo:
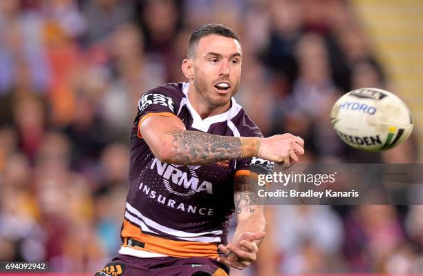
[[[290,134],[263,138],[232,97],[241,61],[233,30],[200,27],[182,61],[189,81],[140,97],[123,244],[97,275],[228,275],[229,266],[254,262],[265,237],[257,175],[272,173],[274,162],[295,164],[304,142]],[[234,211],[237,227],[228,243]]]

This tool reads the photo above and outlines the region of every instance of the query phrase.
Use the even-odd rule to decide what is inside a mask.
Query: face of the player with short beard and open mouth
[[[211,34],[198,41],[194,86],[212,108],[225,106],[241,80],[241,45],[236,39]]]

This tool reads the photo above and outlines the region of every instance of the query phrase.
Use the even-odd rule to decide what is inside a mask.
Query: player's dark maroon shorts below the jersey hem
[[[229,267],[209,257],[139,258],[118,255],[95,276],[228,276]]]

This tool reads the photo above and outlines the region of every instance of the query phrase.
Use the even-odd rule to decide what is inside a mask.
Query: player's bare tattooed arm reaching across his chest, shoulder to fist
[[[189,131],[178,117],[152,116],[140,132],[153,154],[166,163],[205,165],[216,161],[261,157],[290,166],[303,155],[303,139],[294,135],[269,138],[227,137]]]

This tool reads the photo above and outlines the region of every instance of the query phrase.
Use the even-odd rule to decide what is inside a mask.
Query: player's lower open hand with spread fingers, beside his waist
[[[219,256],[217,261],[237,269],[244,269],[256,260],[259,251],[257,240],[263,239],[266,233],[263,231],[251,233],[244,232],[234,239],[233,244],[219,244],[218,249],[226,256]]]

